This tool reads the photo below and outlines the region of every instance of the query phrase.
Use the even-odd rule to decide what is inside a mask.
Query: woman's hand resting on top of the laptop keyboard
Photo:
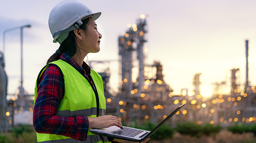
[[[116,116],[110,116],[110,115],[104,115],[104,116],[98,116],[98,117],[88,117],[89,121],[89,129],[90,128],[108,128],[111,126],[117,126],[121,129],[123,129],[122,123],[119,121],[119,119]]]

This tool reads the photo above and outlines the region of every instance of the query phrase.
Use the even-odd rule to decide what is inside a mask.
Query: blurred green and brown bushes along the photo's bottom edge
[[[135,124],[136,126],[136,124]],[[136,127],[151,131],[156,124],[144,122]],[[256,142],[256,124],[236,124],[234,126],[221,128],[219,125],[198,125],[195,123],[177,124],[174,129],[165,124],[159,128],[148,143],[160,142]],[[0,134],[0,143],[24,143],[37,142],[36,132],[32,126],[19,125],[11,132]]]

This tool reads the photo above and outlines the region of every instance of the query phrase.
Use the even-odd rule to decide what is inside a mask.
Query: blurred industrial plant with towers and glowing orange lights
[[[193,94],[183,88],[180,94],[174,94],[174,89],[164,81],[161,61],[152,61],[145,64],[145,47],[147,42],[147,22],[145,16],[137,19],[136,25],[128,25],[128,29],[118,37],[119,55],[119,91],[115,94],[109,91],[111,73],[109,67],[99,73],[103,80],[106,99],[106,114],[116,115],[125,125],[140,125],[151,121],[162,121],[171,111],[181,104],[186,104],[170,120],[172,126],[178,122],[194,122],[196,124],[220,124],[222,127],[235,123],[256,123],[256,88],[249,84],[248,76],[248,40],[246,49],[246,83],[238,83],[239,68],[230,69],[230,92],[224,93],[223,86],[227,81],[216,83],[210,98],[200,94],[200,75],[195,73]],[[242,47],[241,47],[242,48]],[[111,61],[90,61],[89,65],[108,63]],[[4,67],[4,54],[0,53],[0,123],[1,129],[10,129],[17,125],[17,118],[23,115],[28,117],[33,113],[34,96],[27,94],[23,87],[7,100],[7,77]],[[134,67],[138,69],[134,70]],[[136,76],[136,77],[135,77]],[[22,85],[22,84],[21,84]],[[10,85],[9,85],[10,86]]]

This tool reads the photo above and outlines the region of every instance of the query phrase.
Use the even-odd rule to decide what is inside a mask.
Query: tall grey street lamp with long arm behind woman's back
[[[19,93],[24,94],[24,88],[23,88],[23,28],[30,28],[31,25],[24,25],[19,27],[14,27],[11,29],[7,29],[3,33],[3,54],[5,54],[5,33],[20,29],[20,48],[21,48],[21,81],[20,81],[20,87],[19,87]],[[4,58],[5,61],[5,58]]]

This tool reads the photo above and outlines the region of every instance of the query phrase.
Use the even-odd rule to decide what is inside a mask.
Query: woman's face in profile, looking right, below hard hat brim
[[[81,32],[82,40],[80,49],[87,53],[97,53],[100,50],[100,38],[102,35],[97,30],[97,25],[92,17],[87,24],[86,31]]]

